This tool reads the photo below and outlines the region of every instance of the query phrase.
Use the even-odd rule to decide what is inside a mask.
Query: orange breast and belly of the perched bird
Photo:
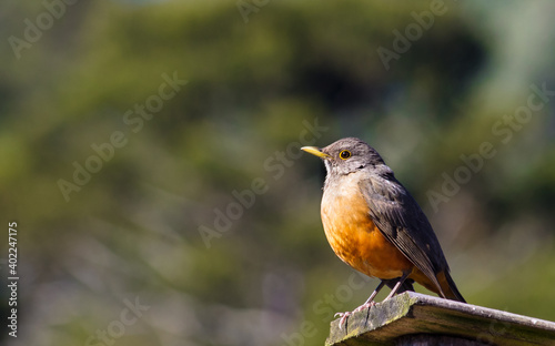
[[[343,180],[341,189],[332,191],[324,191],[322,223],[327,242],[343,262],[385,279],[400,277],[414,267],[374,225],[356,184]]]

